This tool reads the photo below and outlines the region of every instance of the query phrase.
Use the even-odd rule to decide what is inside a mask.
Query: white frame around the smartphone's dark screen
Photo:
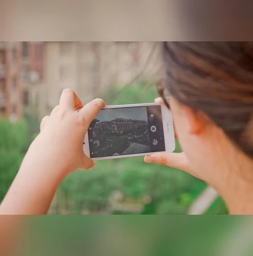
[[[156,103],[145,103],[145,104],[111,105],[111,106],[106,106],[102,109],[124,108],[124,107],[147,107],[147,106],[161,106],[161,108],[162,108],[163,129],[164,129],[165,151],[173,152],[175,150],[173,118],[172,118],[172,113],[171,113],[170,109],[168,109],[166,106],[156,104]],[[90,157],[88,133],[86,133],[86,135],[85,135],[85,141],[84,141],[84,144],[83,144],[83,152],[85,152],[85,154],[88,157]],[[91,157],[91,159],[93,159],[93,160],[102,160],[102,159],[125,158],[125,157],[134,157],[134,156],[152,155],[154,153],[155,152],[137,153],[137,154],[131,154],[131,155],[107,156],[107,157]]]

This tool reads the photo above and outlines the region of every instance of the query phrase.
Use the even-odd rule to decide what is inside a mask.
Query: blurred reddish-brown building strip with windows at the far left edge
[[[21,45],[0,42],[0,115],[15,122],[22,113]]]

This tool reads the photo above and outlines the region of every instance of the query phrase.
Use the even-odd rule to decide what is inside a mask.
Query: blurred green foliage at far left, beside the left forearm
[[[0,201],[16,175],[27,147],[27,123],[10,123],[0,118]]]

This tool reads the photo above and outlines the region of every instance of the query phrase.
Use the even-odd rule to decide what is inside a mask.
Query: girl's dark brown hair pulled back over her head
[[[165,87],[253,158],[253,42],[164,42]]]

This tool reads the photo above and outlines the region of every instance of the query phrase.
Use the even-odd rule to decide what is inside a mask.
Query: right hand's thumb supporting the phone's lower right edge
[[[146,163],[154,163],[154,164],[170,166],[172,168],[180,169],[185,172],[190,171],[188,159],[184,152],[182,153],[158,152],[150,156],[145,156],[144,161]]]

